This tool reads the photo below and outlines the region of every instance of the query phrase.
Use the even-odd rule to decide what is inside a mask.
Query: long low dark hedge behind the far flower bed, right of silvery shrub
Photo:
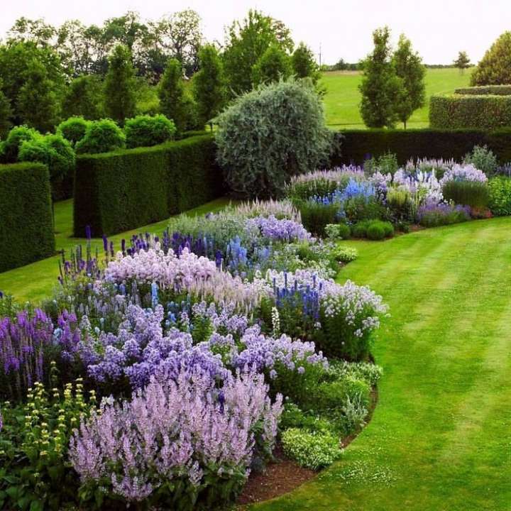
[[[403,165],[410,158],[444,158],[462,160],[474,145],[488,145],[500,163],[511,161],[511,129],[480,130],[345,130],[341,151],[331,165],[356,163],[361,165],[368,156],[378,157],[395,153]]]

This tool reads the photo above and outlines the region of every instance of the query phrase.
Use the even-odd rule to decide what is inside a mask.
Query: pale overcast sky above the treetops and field
[[[388,25],[396,41],[404,32],[424,62],[449,63],[459,50],[477,62],[502,32],[511,30],[510,0],[1,0],[0,34],[20,16],[59,25],[78,18],[86,24],[128,10],[156,19],[182,9],[196,10],[208,40],[223,40],[224,27],[257,8],[291,29],[323,62],[357,62],[371,48],[371,33]]]

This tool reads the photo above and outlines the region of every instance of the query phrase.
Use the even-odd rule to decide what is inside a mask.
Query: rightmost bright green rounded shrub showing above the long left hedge
[[[163,114],[136,116],[128,119],[124,125],[128,148],[148,147],[170,141],[174,138],[175,132],[174,121],[167,119]]]

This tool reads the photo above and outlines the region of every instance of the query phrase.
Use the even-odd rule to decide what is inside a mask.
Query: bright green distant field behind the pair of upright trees
[[[432,94],[454,92],[458,87],[466,87],[470,82],[471,70],[466,70],[463,75],[454,68],[428,69],[426,71],[426,104],[422,109],[414,112],[408,128],[425,128],[429,126],[429,97]],[[338,128],[361,128],[364,123],[358,111],[360,92],[358,84],[362,75],[356,71],[331,71],[323,75],[326,85],[324,98],[326,123]],[[402,125],[399,125],[402,127]]]

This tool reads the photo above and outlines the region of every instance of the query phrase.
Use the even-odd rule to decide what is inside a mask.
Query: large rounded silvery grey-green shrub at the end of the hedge
[[[241,197],[282,194],[292,175],[329,158],[332,141],[322,101],[304,81],[248,92],[218,117],[218,160],[227,184]]]

